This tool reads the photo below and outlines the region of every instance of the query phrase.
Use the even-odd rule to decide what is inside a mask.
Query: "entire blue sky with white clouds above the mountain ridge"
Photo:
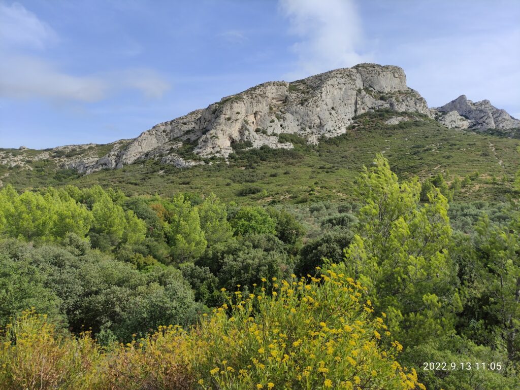
[[[401,66],[520,118],[518,0],[0,0],[0,147],[134,138],[273,80]]]

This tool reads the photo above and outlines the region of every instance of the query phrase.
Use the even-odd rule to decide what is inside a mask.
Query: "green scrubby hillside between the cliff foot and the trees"
[[[29,164],[33,170],[0,165],[0,180],[19,190],[66,184],[87,187],[99,183],[120,188],[128,195],[213,192],[238,204],[349,201],[353,199],[352,187],[362,166],[370,165],[376,153],[383,153],[401,179],[412,176],[425,179],[449,171],[448,181],[455,175],[462,180],[478,172],[478,177],[456,195],[457,200],[506,198],[519,168],[516,149],[520,140],[449,130],[430,119],[385,125],[384,121],[394,115],[363,114],[345,135],[322,140],[319,145],[308,145],[297,136],[282,134],[280,139],[292,142],[294,149],[237,147],[229,164],[178,169],[147,160],[77,177],[71,172],[60,173],[51,158]],[[34,151],[22,153],[26,152],[34,156]],[[493,177],[497,178],[495,182]],[[262,192],[246,194],[251,186],[261,187]]]

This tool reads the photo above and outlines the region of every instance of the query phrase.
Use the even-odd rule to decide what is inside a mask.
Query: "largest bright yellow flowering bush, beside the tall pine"
[[[237,291],[198,328],[201,389],[413,389],[417,373],[394,361],[402,346],[363,303],[363,288],[333,264],[319,278],[282,280],[271,295]],[[274,280],[276,282],[276,280]],[[275,294],[276,293],[276,294]],[[227,310],[226,310],[227,308]]]

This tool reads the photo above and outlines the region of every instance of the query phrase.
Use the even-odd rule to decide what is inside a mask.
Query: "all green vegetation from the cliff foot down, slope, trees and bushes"
[[[180,168],[3,149],[0,387],[520,388],[517,134],[382,107]]]

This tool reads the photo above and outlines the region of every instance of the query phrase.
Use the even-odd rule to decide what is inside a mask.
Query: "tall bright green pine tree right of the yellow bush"
[[[399,183],[381,155],[358,179],[359,230],[346,250],[350,275],[369,288],[391,330],[410,345],[453,332],[451,227],[439,190],[420,207],[417,179]]]

